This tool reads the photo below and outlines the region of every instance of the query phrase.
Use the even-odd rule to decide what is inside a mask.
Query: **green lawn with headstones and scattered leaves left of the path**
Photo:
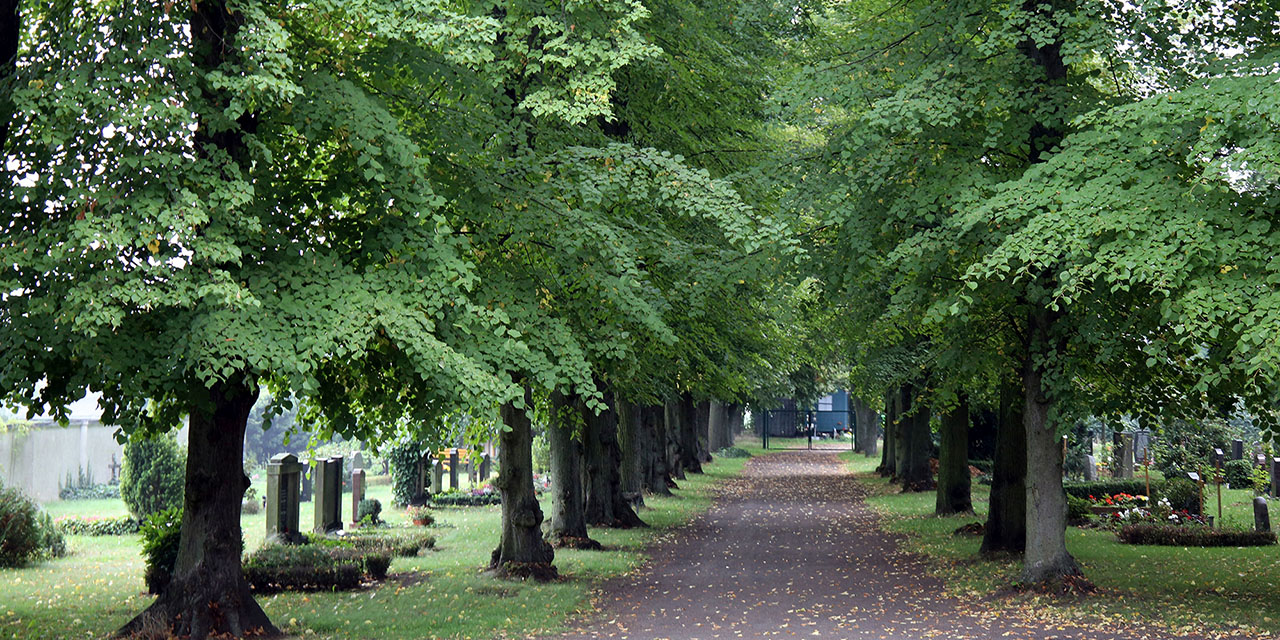
[[[758,444],[740,443],[753,454]],[[553,584],[512,582],[480,570],[498,543],[498,507],[436,509],[430,529],[436,550],[396,558],[390,575],[376,586],[347,593],[284,593],[259,596],[271,620],[289,636],[316,640],[490,639],[529,637],[564,630],[564,622],[590,607],[593,588],[603,579],[640,567],[645,547],[664,530],[681,526],[710,508],[716,486],[742,471],[746,458],[716,458],[704,475],[680,481],[676,495],[646,497],[640,516],[653,529],[593,529],[607,552],[556,552],[564,579]],[[390,504],[390,488],[372,485],[369,497]],[[348,495],[349,500],[349,495]],[[544,502],[544,512],[549,504]],[[59,516],[120,516],[119,500],[76,500],[49,504]],[[349,518],[349,503],[344,517]],[[407,526],[404,512],[385,507],[393,526]],[[303,522],[311,506],[302,507]],[[243,517],[244,547],[256,549],[265,516]],[[151,596],[142,585],[137,535],[68,536],[72,554],[22,570],[0,571],[0,639],[106,637]]]

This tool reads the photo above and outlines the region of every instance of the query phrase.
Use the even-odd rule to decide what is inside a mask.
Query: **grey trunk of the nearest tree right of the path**
[[[1027,553],[1024,584],[1060,584],[1083,580],[1080,566],[1066,550],[1066,493],[1062,490],[1062,440],[1050,420],[1053,398],[1044,387],[1037,357],[1052,348],[1055,314],[1032,311],[1028,319],[1030,348],[1023,364],[1024,420],[1027,429]]]

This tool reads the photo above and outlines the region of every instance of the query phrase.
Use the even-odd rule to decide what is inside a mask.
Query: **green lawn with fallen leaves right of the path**
[[[980,536],[952,535],[965,524],[986,521],[988,486],[973,485],[977,516],[934,517],[934,493],[899,493],[874,472],[879,456],[865,458],[846,452],[841,457],[869,489],[867,502],[884,518],[882,526],[906,534],[908,550],[929,556],[951,595],[979,599],[995,612],[1016,609],[1046,622],[1092,622],[1100,628],[1142,621],[1170,631],[1254,637],[1275,637],[1280,630],[1280,547],[1138,547],[1120,544],[1106,530],[1069,527],[1068,549],[1100,593],[1070,599],[1010,595],[1007,588],[1021,568],[1019,559],[979,559]],[[1248,490],[1224,490],[1222,520],[1252,527],[1252,498]],[[1216,513],[1216,495],[1213,502],[1206,499],[1207,512]],[[1271,521],[1280,521],[1275,502]]]

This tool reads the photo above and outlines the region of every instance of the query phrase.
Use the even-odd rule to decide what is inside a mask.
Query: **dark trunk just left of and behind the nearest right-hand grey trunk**
[[[980,553],[1023,553],[1027,548],[1027,429],[1018,387],[1000,387],[996,457],[991,470],[991,508]]]

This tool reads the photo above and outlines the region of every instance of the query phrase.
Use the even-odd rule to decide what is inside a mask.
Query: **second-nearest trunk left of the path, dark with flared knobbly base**
[[[543,540],[543,509],[534,493],[534,433],[527,413],[532,403],[534,392],[525,387],[522,407],[507,402],[500,410],[507,426],[498,435],[495,481],[502,493],[502,540],[493,550],[489,568],[498,576],[552,580],[557,576],[552,566],[556,552]]]

